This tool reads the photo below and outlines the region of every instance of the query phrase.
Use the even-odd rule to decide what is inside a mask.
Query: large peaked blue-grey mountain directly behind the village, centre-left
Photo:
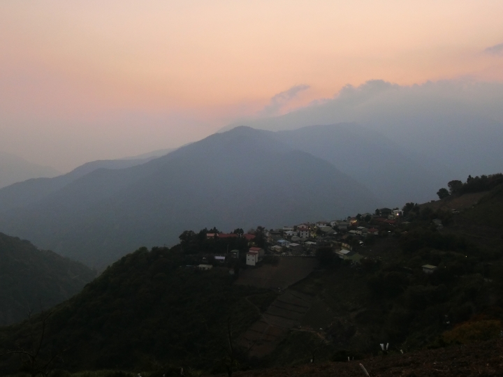
[[[99,169],[4,211],[0,230],[103,267],[187,229],[272,227],[365,212],[379,200],[335,166],[239,127],[148,163]]]

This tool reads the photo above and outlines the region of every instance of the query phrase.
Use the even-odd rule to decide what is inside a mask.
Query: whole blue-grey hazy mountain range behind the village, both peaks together
[[[0,231],[103,267],[183,230],[341,219],[435,199],[442,163],[354,123],[233,128],[165,156],[94,161],[0,189]],[[455,177],[457,178],[457,177]]]

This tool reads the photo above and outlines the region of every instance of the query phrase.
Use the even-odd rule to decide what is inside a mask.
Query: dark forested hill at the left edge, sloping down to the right
[[[94,276],[81,263],[0,233],[0,325],[67,300]]]

